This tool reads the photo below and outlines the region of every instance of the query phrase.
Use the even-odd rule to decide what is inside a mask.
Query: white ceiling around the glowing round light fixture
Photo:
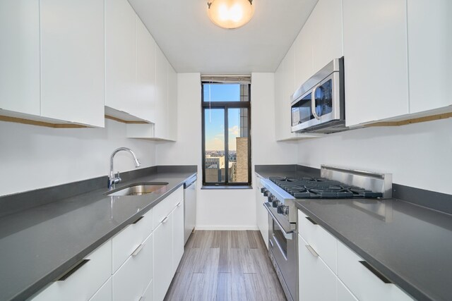
[[[225,30],[207,0],[129,0],[178,73],[274,72],[318,0],[254,0],[254,17]]]

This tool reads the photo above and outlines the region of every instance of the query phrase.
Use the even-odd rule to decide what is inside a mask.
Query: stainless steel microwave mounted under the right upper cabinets
[[[291,97],[292,132],[335,133],[345,127],[344,58],[321,68]]]

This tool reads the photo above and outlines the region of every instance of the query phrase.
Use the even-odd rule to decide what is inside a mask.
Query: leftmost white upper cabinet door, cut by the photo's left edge
[[[0,109],[40,115],[40,1],[0,1]]]

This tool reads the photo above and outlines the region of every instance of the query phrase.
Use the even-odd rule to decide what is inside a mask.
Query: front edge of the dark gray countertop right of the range
[[[416,300],[434,300],[434,297],[429,297],[429,295],[423,293],[421,290],[416,288],[415,285],[412,285],[402,276],[396,274],[396,272],[388,268],[388,266],[379,262],[378,259],[371,257],[369,253],[362,250],[362,248],[360,248],[358,245],[355,245],[355,243],[345,238],[345,236],[340,234],[338,231],[335,231],[335,229],[329,226],[326,221],[323,221],[323,219],[320,219],[318,216],[316,216],[314,212],[304,207],[301,202],[295,202],[295,206],[299,210],[303,211],[304,214],[307,214],[311,219],[316,221],[316,223],[322,226],[326,231],[331,233],[331,235],[340,240],[340,242],[343,242],[343,244],[349,247],[353,252],[357,253],[359,257],[362,257],[362,259],[366,260],[371,266],[374,266],[377,271],[381,272],[381,274],[386,276],[391,282],[404,290],[405,293],[408,293],[408,295],[414,297]]]

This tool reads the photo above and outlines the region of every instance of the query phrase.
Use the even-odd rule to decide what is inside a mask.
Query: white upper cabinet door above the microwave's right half
[[[315,73],[333,59],[343,56],[342,1],[319,0],[309,19],[315,30],[311,37]]]

